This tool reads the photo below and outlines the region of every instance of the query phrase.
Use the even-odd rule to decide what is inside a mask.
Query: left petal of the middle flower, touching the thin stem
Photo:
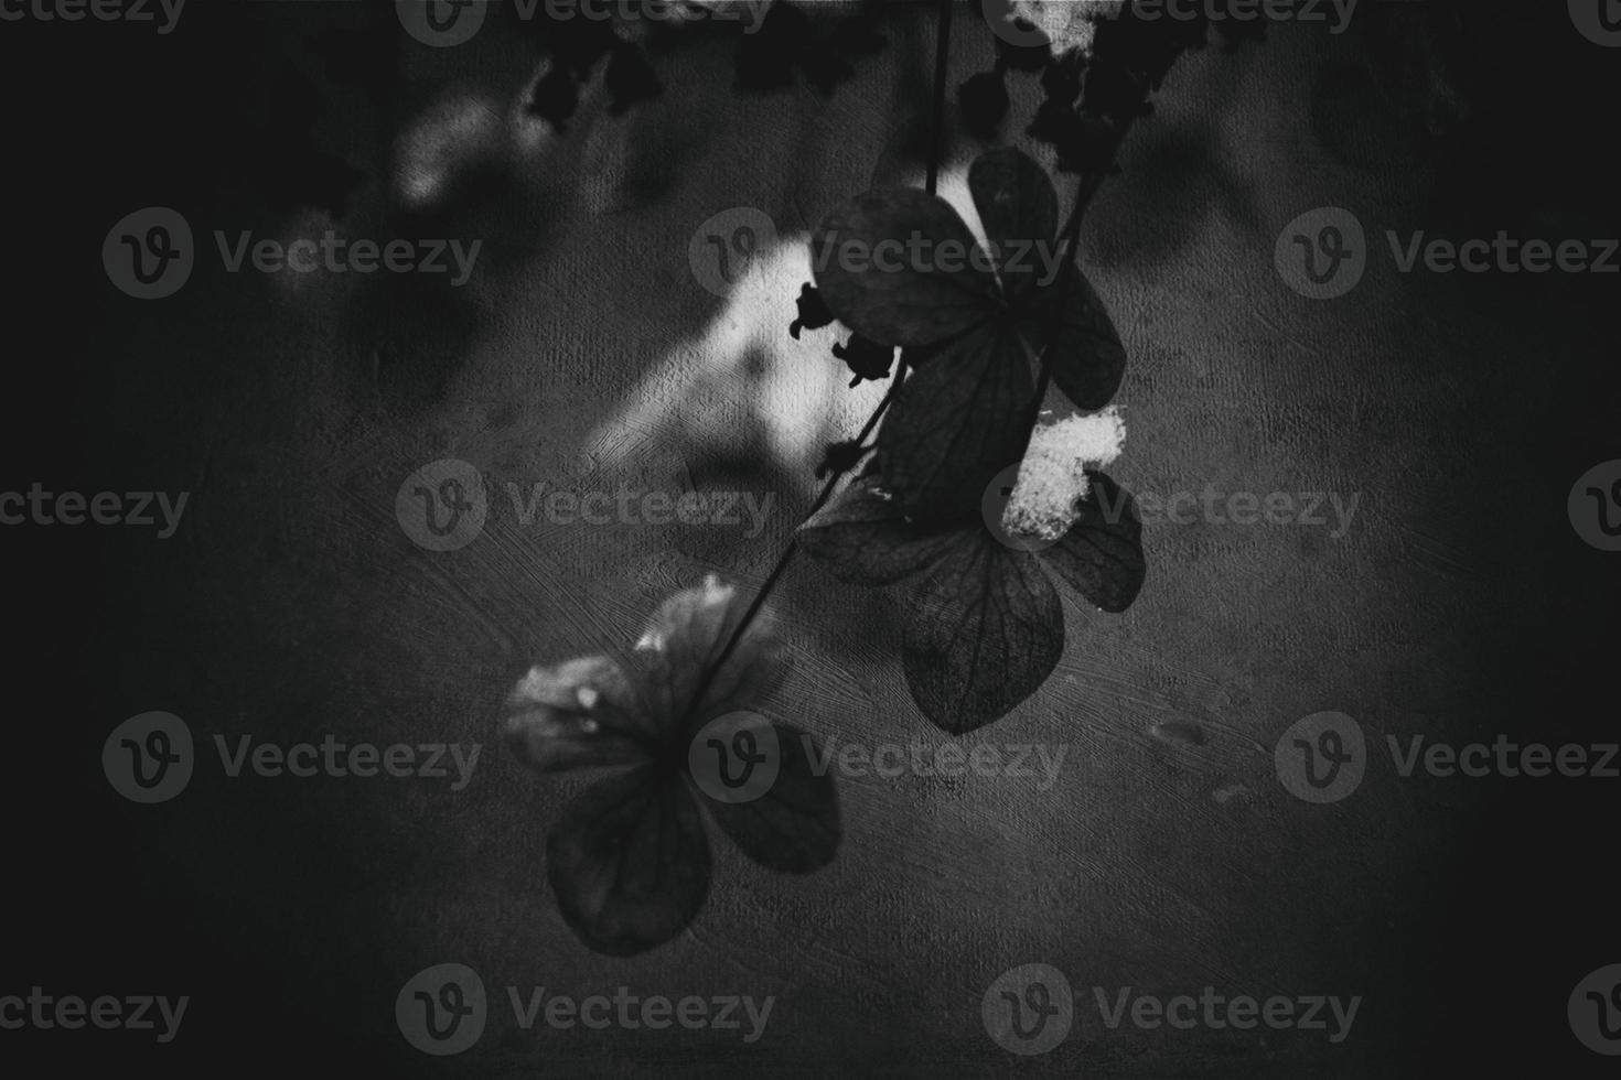
[[[893,585],[927,570],[952,533],[911,525],[877,476],[862,476],[799,526],[799,546],[853,585]]]

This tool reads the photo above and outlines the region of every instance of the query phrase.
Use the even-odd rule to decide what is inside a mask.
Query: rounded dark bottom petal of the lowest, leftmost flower
[[[564,921],[616,957],[669,941],[708,895],[697,803],[674,772],[644,766],[587,789],[546,837],[546,878]]]

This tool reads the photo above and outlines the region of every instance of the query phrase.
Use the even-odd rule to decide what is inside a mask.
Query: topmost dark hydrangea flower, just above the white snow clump
[[[989,251],[950,202],[916,188],[856,196],[812,238],[827,308],[861,337],[903,348],[916,369],[879,431],[879,465],[901,508],[927,521],[977,508],[986,484],[1023,455],[1039,350],[1052,382],[1086,410],[1107,405],[1125,372],[1102,301],[1060,259],[1047,173],[1003,147],[974,160],[968,186]]]

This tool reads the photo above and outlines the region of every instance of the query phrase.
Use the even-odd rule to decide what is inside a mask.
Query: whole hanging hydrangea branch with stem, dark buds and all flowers
[[[934,191],[952,8],[934,8],[926,186],[848,199],[810,238],[815,282],[785,332],[836,321],[851,337],[835,358],[854,382],[888,377],[890,389],[854,439],[828,449],[794,542],[747,599],[712,578],[668,599],[624,661],[537,665],[512,693],[504,735],[522,761],[614,771],[546,840],[559,910],[598,952],[652,949],[697,918],[712,870],[705,816],[770,870],[809,873],[836,855],[838,798],[812,769],[815,742],[755,711],[786,675],[768,601],[799,552],[895,602],[906,685],[950,733],[1002,719],[1050,677],[1067,649],[1063,589],[1123,612],[1143,588],[1141,525],[1102,471],[1125,437],[1110,402],[1127,353],[1078,249],[1128,130],[1208,28],[1140,19],[1120,0],[986,5],[994,66],[960,87],[958,113],[973,134],[994,134],[1005,79],[1039,78],[1026,134],[1052,149],[1075,194],[1060,223],[1034,157],[986,151],[968,172],[981,243]],[[781,11],[794,8],[776,3],[768,19],[802,18]],[[896,251],[913,257],[877,257]],[[1047,410],[1054,390],[1068,415]]]

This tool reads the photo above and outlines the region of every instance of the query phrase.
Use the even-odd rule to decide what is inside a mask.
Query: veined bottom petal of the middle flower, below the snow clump
[[[913,699],[953,735],[1000,719],[1063,656],[1063,606],[1029,552],[963,528],[911,596],[901,662]]]

